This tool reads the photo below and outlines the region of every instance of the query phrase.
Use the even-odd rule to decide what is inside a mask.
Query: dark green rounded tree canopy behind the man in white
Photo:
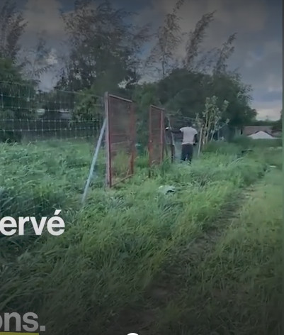
[[[222,111],[220,121],[224,123],[229,119],[230,127],[245,126],[256,116],[256,111],[249,106],[250,88],[242,84],[237,75],[211,76],[177,69],[149,87],[153,90],[152,94],[157,94],[156,101],[166,106],[169,111],[179,111],[179,117],[183,119],[203,114],[206,98],[212,96],[217,98],[216,108]],[[149,98],[151,94],[144,87],[137,90],[145,94],[145,101],[154,100]],[[140,97],[138,101],[142,100]],[[224,101],[228,104],[226,109],[223,106]]]

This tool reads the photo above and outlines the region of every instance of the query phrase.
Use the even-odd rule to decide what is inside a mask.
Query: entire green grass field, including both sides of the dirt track
[[[67,229],[0,238],[0,310],[34,311],[52,335],[281,334],[282,148],[258,143],[210,145],[151,179],[140,157],[83,209],[93,148],[1,145],[1,215],[62,209]]]

